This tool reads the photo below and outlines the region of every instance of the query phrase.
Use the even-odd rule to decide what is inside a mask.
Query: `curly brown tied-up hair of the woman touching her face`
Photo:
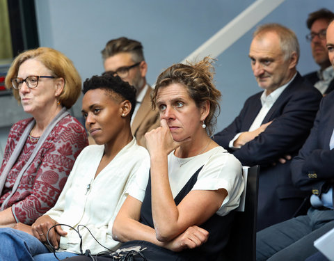
[[[157,79],[154,90],[151,94],[152,108],[157,106],[157,94],[160,88],[169,86],[170,84],[182,84],[186,87],[189,96],[194,100],[198,108],[206,101],[209,101],[210,109],[205,125],[207,125],[207,133],[211,136],[214,133],[214,126],[217,122],[221,108],[219,100],[221,92],[214,86],[214,66],[213,59],[205,57],[198,63],[176,63],[164,72],[161,72]]]

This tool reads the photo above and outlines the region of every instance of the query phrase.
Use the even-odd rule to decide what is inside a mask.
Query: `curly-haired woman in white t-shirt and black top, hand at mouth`
[[[209,58],[159,75],[152,105],[161,126],[145,134],[150,175],[129,189],[113,224],[121,253],[97,260],[215,260],[225,247],[244,180],[239,161],[209,136],[220,97],[212,78]]]

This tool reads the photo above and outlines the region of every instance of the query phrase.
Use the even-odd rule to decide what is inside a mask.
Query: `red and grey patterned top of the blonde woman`
[[[33,118],[20,120],[10,129],[0,173],[31,120]],[[34,139],[36,138],[31,139],[28,136],[19,158],[8,173],[0,197],[0,205],[10,195],[19,171],[31,157],[37,144]],[[17,191],[5,207],[12,207],[17,222],[30,225],[54,206],[75,159],[86,145],[88,141],[85,129],[75,118],[67,115],[57,123],[31,165],[26,169]]]

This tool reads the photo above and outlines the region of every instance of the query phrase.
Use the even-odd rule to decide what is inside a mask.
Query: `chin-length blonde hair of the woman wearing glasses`
[[[65,86],[61,95],[59,95],[59,102],[67,109],[77,102],[81,93],[81,77],[75,69],[72,61],[61,52],[48,47],[39,47],[31,49],[19,54],[10,65],[5,79],[5,86],[8,89],[13,89],[13,95],[19,102],[19,90],[15,90],[10,79],[16,78],[19,71],[19,66],[29,59],[40,61],[47,69],[51,71],[52,76],[56,78],[63,78]]]

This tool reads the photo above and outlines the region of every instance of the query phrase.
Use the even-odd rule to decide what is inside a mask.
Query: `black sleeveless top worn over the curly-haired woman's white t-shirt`
[[[191,191],[197,181],[198,173],[200,173],[202,167],[200,167],[198,171],[191,176],[190,180],[177,194],[174,199],[176,205],[178,205],[186,194]],[[143,199],[143,204],[141,206],[140,222],[146,226],[154,228],[151,206],[151,177],[149,177],[148,186],[145,191],[145,198]],[[230,212],[226,216],[218,216],[217,214],[214,214],[205,223],[200,225],[201,228],[204,228],[209,232],[207,242],[198,248],[188,249],[181,252],[173,252],[175,254],[175,260],[216,260],[218,253],[221,253],[223,248],[225,248],[228,243],[230,224],[232,223],[233,217],[234,212]]]

